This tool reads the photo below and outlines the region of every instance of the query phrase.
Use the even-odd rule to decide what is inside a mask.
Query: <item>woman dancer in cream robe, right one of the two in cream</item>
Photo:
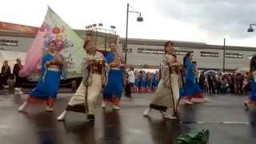
[[[159,110],[164,118],[176,119],[179,98],[179,62],[174,54],[173,42],[166,42],[165,54],[161,65],[161,79],[154,93],[153,101],[148,109],[143,112],[144,116],[150,114],[150,110]]]

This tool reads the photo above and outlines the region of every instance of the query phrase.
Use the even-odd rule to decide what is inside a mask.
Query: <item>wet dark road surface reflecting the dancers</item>
[[[158,111],[142,117],[152,94],[122,98],[121,110],[98,108],[96,122],[87,122],[84,114],[70,112],[65,122],[57,122],[72,94],[58,94],[53,113],[44,105],[31,105],[26,113],[18,106],[26,94],[0,94],[1,144],[171,144],[179,134],[190,130],[210,130],[210,144],[249,144],[256,141],[256,109],[244,109],[246,97],[207,96],[210,102],[194,106],[180,105],[181,122],[166,120]]]

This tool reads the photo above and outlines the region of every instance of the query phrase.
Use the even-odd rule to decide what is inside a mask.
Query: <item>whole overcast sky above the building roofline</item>
[[[50,6],[74,29],[93,23],[116,26],[126,32],[126,3],[140,12],[130,14],[129,38],[151,38],[206,42],[222,45],[255,46],[256,32],[247,33],[256,22],[256,1],[246,0],[7,0],[0,5],[0,21],[41,26]]]

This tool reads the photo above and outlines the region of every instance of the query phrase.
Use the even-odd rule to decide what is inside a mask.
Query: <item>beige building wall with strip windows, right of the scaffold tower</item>
[[[119,49],[122,49],[123,54],[125,54],[124,42],[125,39],[121,38]],[[167,40],[130,38],[127,46],[127,63],[133,66],[158,67],[164,54],[165,42]],[[224,61],[225,70],[248,67],[250,56],[256,53],[255,47],[226,46],[224,60],[224,46],[201,42],[173,42],[180,62],[186,53],[191,53],[194,55],[193,60],[198,62],[199,69],[206,70],[222,70]]]

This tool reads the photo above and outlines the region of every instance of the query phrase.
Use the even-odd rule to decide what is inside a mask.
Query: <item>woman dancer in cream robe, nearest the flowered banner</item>
[[[95,120],[95,110],[102,86],[106,85],[109,68],[103,54],[97,51],[93,38],[86,39],[83,48],[86,50],[86,58],[82,64],[82,82],[66,109],[58,116],[58,121],[63,121],[68,111],[85,113],[90,122]]]

